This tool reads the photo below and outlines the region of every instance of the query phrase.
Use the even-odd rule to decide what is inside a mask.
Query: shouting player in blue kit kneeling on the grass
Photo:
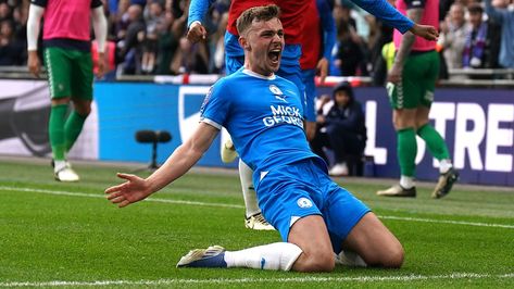
[[[283,241],[240,251],[220,246],[197,249],[183,256],[178,267],[330,272],[341,252],[353,252],[354,264],[360,260],[368,266],[400,267],[399,240],[364,203],[330,179],[326,163],[309,147],[300,91],[275,75],[284,49],[278,13],[276,5],[267,5],[240,15],[245,66],[214,84],[196,131],[163,166],[146,179],[118,174],[126,181],[108,188],[108,199],[124,208],[173,183],[225,127],[253,169],[259,204]]]

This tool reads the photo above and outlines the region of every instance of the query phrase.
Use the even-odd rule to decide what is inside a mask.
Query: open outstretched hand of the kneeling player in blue
[[[127,181],[105,189],[105,193],[108,200],[120,208],[145,200],[152,193],[147,181],[136,175],[118,173],[117,177]]]

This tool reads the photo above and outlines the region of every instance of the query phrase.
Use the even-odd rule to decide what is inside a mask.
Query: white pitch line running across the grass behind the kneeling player
[[[15,187],[7,187],[7,186],[0,186],[0,190],[8,190],[8,191],[12,190],[12,191],[38,192],[38,193],[67,196],[67,197],[85,197],[85,198],[105,199],[105,196],[97,194],[97,193],[58,191],[58,190],[45,190],[45,189],[30,189],[30,188],[15,188]],[[188,204],[188,205],[201,205],[201,206],[245,209],[243,205],[239,205],[239,204],[193,202],[193,201],[170,200],[170,199],[159,199],[159,198],[150,198],[150,199],[146,199],[145,201],[147,201],[147,202],[158,202],[158,203],[175,203],[175,204]],[[475,226],[475,227],[493,227],[493,228],[514,229],[514,225],[504,225],[504,224],[494,224],[494,223],[478,223],[478,222],[451,221],[451,219],[430,219],[430,218],[386,216],[386,215],[378,216],[378,217],[384,218],[384,219],[406,221],[406,222],[421,222],[421,223],[436,223],[436,224],[450,224],[450,225],[465,225],[465,226]]]

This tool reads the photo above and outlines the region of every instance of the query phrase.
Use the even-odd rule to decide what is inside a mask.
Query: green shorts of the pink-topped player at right
[[[387,93],[392,109],[430,108],[439,76],[437,51],[414,54],[406,58],[402,80],[394,85],[387,83]]]

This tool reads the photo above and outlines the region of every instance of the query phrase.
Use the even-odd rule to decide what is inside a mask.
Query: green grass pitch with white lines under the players
[[[428,184],[406,200],[374,194],[392,180],[338,179],[403,243],[401,269],[178,269],[193,248],[279,241],[276,231],[243,227],[235,172],[193,169],[149,200],[117,209],[103,190],[134,166],[74,167],[83,180],[60,184],[48,160],[0,160],[0,287],[514,288],[514,189],[456,186],[431,200]]]

